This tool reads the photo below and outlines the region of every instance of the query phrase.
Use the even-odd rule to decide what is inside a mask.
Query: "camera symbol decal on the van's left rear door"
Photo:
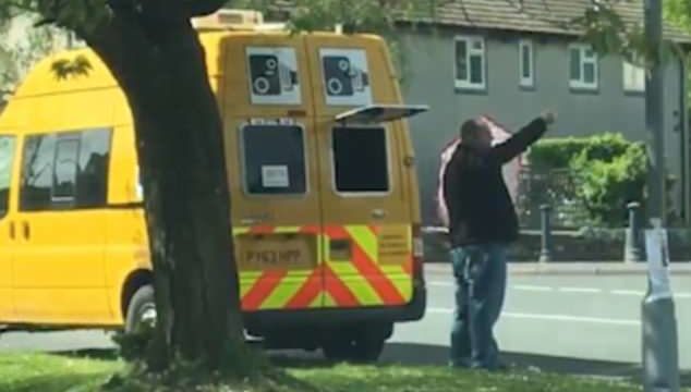
[[[252,103],[300,105],[298,58],[293,48],[247,48]]]

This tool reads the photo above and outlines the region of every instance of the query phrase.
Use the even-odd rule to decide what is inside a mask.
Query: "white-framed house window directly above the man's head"
[[[456,37],[456,87],[485,89],[485,39]]]

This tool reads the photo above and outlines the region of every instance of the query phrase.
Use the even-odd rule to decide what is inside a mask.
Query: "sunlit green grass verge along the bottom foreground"
[[[0,355],[0,392],[99,391],[124,365],[112,359],[86,359],[61,355]],[[596,381],[536,372],[486,373],[443,367],[304,366],[286,364],[286,375],[271,379],[206,385],[208,392],[634,392],[641,388],[622,382]],[[119,390],[149,392],[150,385]],[[187,389],[162,389],[184,391]],[[691,392],[686,389],[684,392]]]

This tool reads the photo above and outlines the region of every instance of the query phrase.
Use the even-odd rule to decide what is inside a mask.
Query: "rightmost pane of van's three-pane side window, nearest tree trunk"
[[[76,207],[105,207],[108,201],[110,130],[84,131],[76,181]]]

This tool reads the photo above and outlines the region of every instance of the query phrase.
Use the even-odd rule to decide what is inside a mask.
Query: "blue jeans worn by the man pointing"
[[[451,330],[451,365],[495,369],[499,347],[494,326],[507,284],[506,244],[483,244],[451,250],[456,277],[456,311]]]

